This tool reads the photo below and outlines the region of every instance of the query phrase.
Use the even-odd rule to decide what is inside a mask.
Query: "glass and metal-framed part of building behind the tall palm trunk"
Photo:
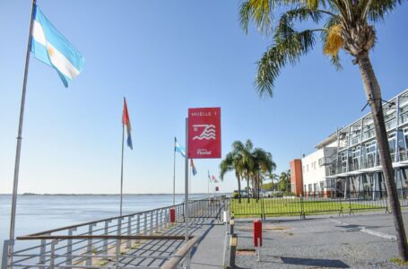
[[[385,101],[383,110],[396,187],[404,191],[408,183],[408,89]],[[343,195],[385,191],[371,112],[334,135],[336,151],[319,161],[326,166],[326,188]]]

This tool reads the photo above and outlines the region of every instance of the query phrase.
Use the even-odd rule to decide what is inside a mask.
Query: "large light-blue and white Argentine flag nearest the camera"
[[[30,51],[39,61],[56,69],[65,87],[82,71],[82,54],[34,7]]]

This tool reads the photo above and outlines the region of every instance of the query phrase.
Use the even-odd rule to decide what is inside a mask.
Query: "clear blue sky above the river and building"
[[[343,71],[336,72],[320,44],[282,70],[273,99],[260,99],[256,61],[269,40],[239,28],[239,3],[39,0],[86,62],[65,89],[52,68],[31,56],[19,192],[117,193],[123,96],[134,138],[134,151],[125,152],[125,193],[171,192],[173,137],[184,144],[187,108],[221,107],[222,155],[233,141],[250,138],[272,152],[277,172],[369,112],[360,112],[366,100],[358,66],[343,56]],[[384,99],[408,88],[407,13],[408,4],[399,6],[377,26],[371,59]],[[29,20],[30,1],[1,2],[0,193],[12,192]],[[195,161],[193,192],[207,191],[207,169],[218,176],[219,163]],[[233,174],[220,187],[235,189]]]

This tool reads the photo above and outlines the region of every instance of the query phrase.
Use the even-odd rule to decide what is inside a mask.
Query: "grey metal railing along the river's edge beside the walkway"
[[[187,206],[188,216],[189,218],[215,218],[220,215],[222,205],[219,198],[190,200]],[[17,237],[14,241],[5,240],[2,269],[124,267],[120,264],[120,259],[126,258],[126,252],[143,245],[148,240],[184,240],[184,237],[170,232],[178,222],[185,221],[184,203],[174,206],[176,223],[170,223],[171,208],[173,206],[45,230]],[[193,247],[195,244],[192,242],[196,242],[197,239],[191,240],[193,239],[187,241],[184,246]],[[13,253],[10,256],[8,249],[11,244],[13,244]],[[176,250],[167,251],[160,256],[138,255],[132,258],[159,260],[160,262],[154,265],[142,266],[159,268],[170,260],[171,265],[174,261],[181,263],[183,259],[180,260],[179,255],[175,259],[173,254]],[[133,267],[126,265],[126,268]]]

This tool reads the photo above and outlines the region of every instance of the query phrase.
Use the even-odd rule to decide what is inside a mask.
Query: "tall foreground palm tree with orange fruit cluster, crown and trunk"
[[[402,260],[408,260],[403,217],[397,196],[391,155],[387,141],[382,108],[381,90],[369,59],[369,51],[376,41],[374,24],[383,22],[385,15],[395,9],[401,0],[245,0],[239,9],[242,28],[254,22],[258,30],[273,39],[258,62],[256,88],[260,95],[273,95],[273,83],[281,69],[295,65],[300,56],[315,47],[317,33],[323,43],[324,52],[332,64],[341,68],[339,51],[353,57],[352,63],[359,65],[364,91],[371,108],[383,166],[386,190],[394,215],[398,252]],[[275,27],[272,27],[275,6],[285,6]],[[309,21],[317,24],[314,29],[296,30],[295,22]],[[323,23],[322,23],[323,22]],[[309,25],[309,24],[308,24]]]

